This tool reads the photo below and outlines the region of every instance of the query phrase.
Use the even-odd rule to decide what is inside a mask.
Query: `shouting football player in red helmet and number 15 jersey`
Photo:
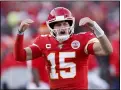
[[[79,26],[88,25],[94,32],[74,34],[75,18],[64,7],[54,8],[46,22],[50,35],[38,36],[34,43],[23,48],[24,31],[33,20],[22,21],[15,41],[17,61],[46,58],[51,89],[87,89],[88,56],[109,55],[113,49],[100,26],[89,17]]]

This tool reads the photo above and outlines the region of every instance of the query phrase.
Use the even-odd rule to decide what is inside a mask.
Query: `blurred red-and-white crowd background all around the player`
[[[90,30],[86,26],[79,27],[78,25],[81,18],[90,17],[101,26],[112,43],[113,53],[111,55],[103,57],[90,55],[88,75],[89,88],[119,89],[119,5],[119,1],[1,2],[2,86],[7,88],[7,83],[11,82],[14,84],[18,82],[18,84],[20,84],[18,86],[23,88],[23,84],[21,84],[23,82],[26,83],[27,88],[29,89],[49,89],[48,72],[46,71],[44,58],[40,57],[37,60],[16,62],[13,56],[13,47],[22,20],[27,18],[34,20],[34,23],[30,25],[29,30],[25,31],[24,47],[26,47],[30,45],[39,34],[49,34],[45,21],[53,8],[61,6],[68,8],[75,17],[75,33]],[[27,70],[23,68],[26,68]],[[14,75],[10,71],[14,72]],[[20,71],[21,75],[17,71]],[[15,77],[15,75],[18,75],[18,78]],[[10,81],[11,79],[8,79],[8,76],[11,76],[10,78],[12,81]],[[16,81],[14,80],[15,78],[19,80]],[[25,81],[21,81],[22,79]],[[13,86],[12,84],[8,86],[11,88],[15,87],[15,85]]]

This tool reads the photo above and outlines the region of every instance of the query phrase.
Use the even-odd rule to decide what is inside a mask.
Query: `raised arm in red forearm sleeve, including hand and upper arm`
[[[21,22],[14,47],[15,59],[17,61],[32,60],[39,56],[37,53],[40,53],[40,49],[36,45],[31,45],[30,47],[23,48],[24,31],[33,22],[34,21],[31,19],[26,19]]]

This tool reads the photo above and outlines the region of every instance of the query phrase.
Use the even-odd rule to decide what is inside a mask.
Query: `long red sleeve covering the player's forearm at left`
[[[23,49],[23,35],[17,35],[14,49],[15,59],[17,61],[26,61],[26,51]]]

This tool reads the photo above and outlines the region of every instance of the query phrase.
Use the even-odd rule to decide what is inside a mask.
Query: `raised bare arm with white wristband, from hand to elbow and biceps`
[[[104,31],[100,28],[100,26],[93,20],[88,17],[82,18],[79,22],[80,26],[87,24],[94,30],[94,33],[99,40],[99,42],[95,42],[93,44],[94,54],[101,56],[101,55],[109,55],[113,52],[112,45],[108,40],[107,36],[105,35]]]

